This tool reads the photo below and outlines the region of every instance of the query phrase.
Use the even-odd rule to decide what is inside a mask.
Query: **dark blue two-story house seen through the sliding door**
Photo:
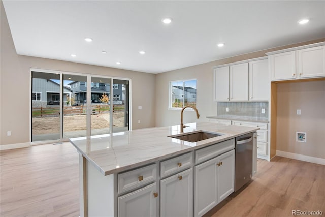
[[[75,104],[87,102],[87,85],[85,81],[69,83]],[[107,94],[110,97],[110,84],[91,82],[91,103],[100,103],[100,97]],[[123,104],[122,84],[113,84],[113,104]]]

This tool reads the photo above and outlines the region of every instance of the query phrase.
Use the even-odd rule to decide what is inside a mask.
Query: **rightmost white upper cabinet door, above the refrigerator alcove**
[[[298,77],[325,76],[325,46],[298,50]]]

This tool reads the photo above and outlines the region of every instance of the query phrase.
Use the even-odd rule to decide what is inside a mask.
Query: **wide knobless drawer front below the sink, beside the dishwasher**
[[[205,148],[201,148],[194,152],[195,163],[201,163],[211,158],[214,158],[224,152],[232,150],[235,148],[235,139],[230,139],[224,142],[220,142],[215,145],[210,145]]]

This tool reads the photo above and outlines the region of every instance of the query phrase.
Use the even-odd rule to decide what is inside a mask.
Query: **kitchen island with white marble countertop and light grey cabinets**
[[[184,133],[175,125],[70,139],[80,154],[80,216],[203,215],[234,190],[234,138],[258,129],[202,122],[186,124]],[[169,137],[200,131],[221,135],[197,142]],[[229,169],[221,169],[227,168],[222,162]],[[204,173],[193,174],[209,163],[219,167],[213,169],[219,172],[215,201],[202,208],[196,191]],[[226,179],[224,191],[217,192],[218,177]],[[179,203],[171,203],[171,196]]]

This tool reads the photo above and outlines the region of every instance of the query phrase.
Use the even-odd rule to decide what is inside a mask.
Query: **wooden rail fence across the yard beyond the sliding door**
[[[64,106],[63,114],[86,114],[86,105],[80,106]],[[113,105],[113,112],[123,112],[125,109],[124,105]],[[110,111],[110,105],[91,105],[92,114],[107,113]],[[60,107],[33,107],[33,117],[45,117],[45,116],[59,116]]]

